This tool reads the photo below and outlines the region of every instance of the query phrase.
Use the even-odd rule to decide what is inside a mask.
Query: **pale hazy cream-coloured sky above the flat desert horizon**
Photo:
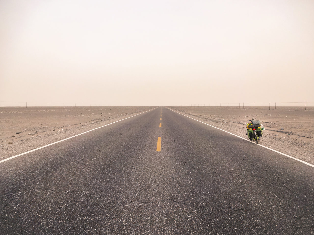
[[[314,102],[314,1],[0,0],[0,102]]]

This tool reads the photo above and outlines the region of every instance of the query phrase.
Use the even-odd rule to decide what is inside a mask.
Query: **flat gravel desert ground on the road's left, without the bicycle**
[[[2,107],[0,160],[154,107]]]

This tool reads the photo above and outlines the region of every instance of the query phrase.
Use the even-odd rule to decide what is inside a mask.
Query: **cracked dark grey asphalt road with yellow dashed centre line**
[[[314,234],[313,195],[313,167],[158,107],[0,163],[0,234]]]

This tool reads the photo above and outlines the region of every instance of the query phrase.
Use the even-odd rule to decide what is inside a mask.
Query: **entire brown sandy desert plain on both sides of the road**
[[[0,160],[154,107],[2,107]],[[266,130],[259,144],[314,164],[314,107],[168,107],[243,138],[247,120]],[[223,143],[221,143],[223,145]],[[258,153],[257,153],[258,155]]]

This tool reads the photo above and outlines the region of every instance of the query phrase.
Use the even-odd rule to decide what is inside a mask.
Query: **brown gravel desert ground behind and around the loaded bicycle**
[[[248,120],[260,120],[266,130],[259,144],[314,165],[314,107],[169,108],[243,138]]]

